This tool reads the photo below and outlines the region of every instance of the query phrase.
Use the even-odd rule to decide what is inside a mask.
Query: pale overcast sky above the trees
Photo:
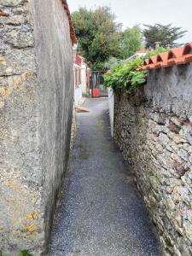
[[[124,28],[136,24],[172,23],[187,30],[180,43],[192,42],[192,0],[68,0],[71,12],[79,7],[108,5]]]

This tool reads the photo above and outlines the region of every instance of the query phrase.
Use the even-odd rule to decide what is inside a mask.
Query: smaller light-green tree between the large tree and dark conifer
[[[125,29],[121,42],[121,57],[126,59],[141,49],[142,32],[139,26]]]

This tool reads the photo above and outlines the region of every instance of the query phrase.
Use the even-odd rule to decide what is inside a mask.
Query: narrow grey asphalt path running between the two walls
[[[49,255],[159,256],[131,173],[110,137],[108,100],[89,99],[77,137]]]

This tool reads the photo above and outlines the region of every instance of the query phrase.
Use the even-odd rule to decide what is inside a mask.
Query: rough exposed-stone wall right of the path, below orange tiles
[[[114,138],[166,255],[192,255],[191,67],[153,70],[135,94],[115,98]]]

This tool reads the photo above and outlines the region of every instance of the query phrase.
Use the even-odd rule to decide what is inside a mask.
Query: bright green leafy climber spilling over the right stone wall
[[[124,65],[113,67],[104,75],[106,87],[112,87],[115,93],[125,92],[137,88],[146,81],[146,71],[137,71],[137,67],[143,66],[143,59],[137,58],[127,61]]]

